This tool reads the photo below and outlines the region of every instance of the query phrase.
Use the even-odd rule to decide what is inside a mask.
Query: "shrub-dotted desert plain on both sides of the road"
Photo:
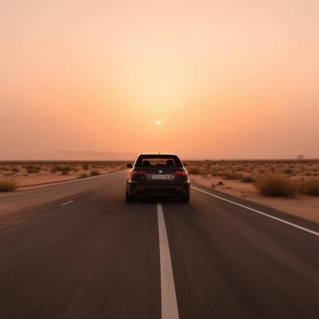
[[[185,162],[188,163],[190,180],[197,184],[319,223],[319,160]],[[15,184],[20,191],[123,171],[126,169],[126,163],[126,161],[3,161],[0,162],[0,190],[1,185],[7,182]],[[269,177],[272,179],[273,176],[277,176],[277,179],[269,181]],[[263,188],[258,186],[258,181],[259,184],[262,183]],[[311,187],[307,182],[311,182]],[[7,189],[2,188],[2,190]]]

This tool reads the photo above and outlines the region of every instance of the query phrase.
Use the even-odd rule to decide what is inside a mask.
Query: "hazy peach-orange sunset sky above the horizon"
[[[319,1],[0,0],[0,109],[0,159],[319,156]]]

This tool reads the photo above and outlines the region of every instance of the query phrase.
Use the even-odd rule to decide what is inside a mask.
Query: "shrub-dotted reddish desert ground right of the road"
[[[319,160],[188,161],[187,169],[190,180],[200,185],[319,223]],[[280,182],[284,179],[281,188],[286,190],[286,182],[296,183],[296,188],[279,196],[262,195],[255,180],[277,174]],[[299,186],[309,180],[312,195]]]

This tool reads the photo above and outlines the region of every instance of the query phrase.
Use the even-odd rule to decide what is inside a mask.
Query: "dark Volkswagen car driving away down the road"
[[[186,163],[173,153],[140,153],[126,179],[125,200],[136,197],[178,197],[182,203],[190,198],[190,182]]]

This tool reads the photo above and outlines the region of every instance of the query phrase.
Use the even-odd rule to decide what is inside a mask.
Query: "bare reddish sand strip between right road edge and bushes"
[[[216,185],[221,181],[224,185],[216,185],[214,189],[319,223],[319,197],[303,194],[297,194],[294,198],[264,197],[258,194],[252,183],[223,180],[219,177],[203,178],[200,175],[190,175],[189,178],[210,188],[212,183]]]

